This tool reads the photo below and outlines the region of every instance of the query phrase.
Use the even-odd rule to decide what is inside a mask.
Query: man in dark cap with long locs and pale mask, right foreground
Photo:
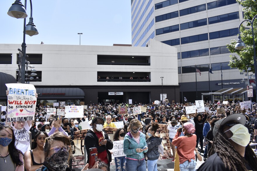
[[[256,171],[257,158],[249,145],[250,134],[242,114],[231,114],[216,121],[209,158],[198,171]]]

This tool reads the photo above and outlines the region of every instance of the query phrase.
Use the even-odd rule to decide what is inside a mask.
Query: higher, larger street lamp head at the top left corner
[[[26,18],[27,12],[24,8],[24,5],[20,2],[20,0],[16,0],[12,6],[9,8],[7,14],[14,18]]]

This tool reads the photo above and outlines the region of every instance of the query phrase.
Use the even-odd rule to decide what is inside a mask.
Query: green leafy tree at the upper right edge
[[[244,12],[244,20],[252,20],[253,17],[257,14],[257,0],[237,0],[237,2],[243,7]],[[246,26],[246,27],[244,27]],[[250,28],[250,29],[248,29]],[[254,29],[254,41],[255,46],[257,43],[257,18],[254,20],[253,23]],[[249,22],[244,22],[244,24],[240,27],[241,38],[244,41],[246,48],[242,50],[236,50],[235,45],[237,43],[236,40],[231,40],[230,44],[227,44],[228,50],[231,53],[237,53],[240,57],[238,58],[236,55],[230,55],[230,62],[229,66],[231,68],[238,68],[239,70],[246,69],[246,65],[253,64],[253,37],[252,37],[252,30],[251,24]],[[255,48],[256,49],[256,48]],[[257,51],[257,49],[256,49]],[[251,67],[251,72],[254,72],[254,67]]]

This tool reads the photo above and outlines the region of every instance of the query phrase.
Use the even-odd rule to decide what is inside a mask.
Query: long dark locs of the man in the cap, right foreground
[[[232,144],[225,137],[223,131],[218,129],[215,137],[213,138],[213,144],[209,150],[209,156],[217,153],[217,155],[223,161],[225,168],[231,171],[247,171],[245,161],[248,162],[249,166],[253,171],[257,171],[257,158],[248,144],[245,148],[245,157],[242,157],[239,152],[232,146]]]

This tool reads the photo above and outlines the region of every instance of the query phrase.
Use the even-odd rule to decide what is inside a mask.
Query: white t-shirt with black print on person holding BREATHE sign
[[[30,125],[31,126],[31,125]],[[18,150],[20,150],[23,154],[30,150],[30,138],[29,138],[29,129],[27,121],[25,122],[24,128],[16,129],[14,126],[11,127],[14,129],[15,135],[15,145]]]

